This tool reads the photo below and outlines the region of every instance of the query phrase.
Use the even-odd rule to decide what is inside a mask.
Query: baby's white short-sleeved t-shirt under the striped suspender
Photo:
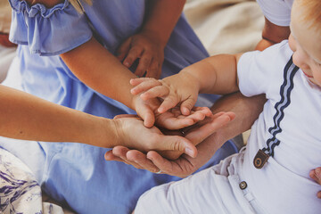
[[[264,52],[244,53],[237,65],[242,94],[268,98],[251,128],[241,177],[269,213],[319,213],[321,187],[309,171],[321,163],[321,90],[301,70],[293,76],[288,72],[284,80],[291,56],[284,40]],[[256,169],[253,159],[275,130],[280,144],[265,166]]]

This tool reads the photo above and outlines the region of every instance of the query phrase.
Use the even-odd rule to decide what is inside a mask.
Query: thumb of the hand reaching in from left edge
[[[195,158],[197,155],[196,147],[183,136],[164,136],[162,144],[157,150],[169,150],[185,152],[187,155]]]

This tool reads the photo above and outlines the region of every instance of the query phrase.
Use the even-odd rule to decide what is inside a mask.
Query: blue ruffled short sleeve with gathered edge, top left
[[[65,0],[53,8],[43,4],[30,6],[24,0],[9,0],[12,6],[10,40],[29,45],[30,53],[57,55],[86,43],[93,33],[86,21]]]

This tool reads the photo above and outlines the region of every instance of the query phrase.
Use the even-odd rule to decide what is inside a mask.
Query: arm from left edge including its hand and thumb
[[[95,117],[1,85],[0,101],[0,136],[107,148],[123,145],[144,152],[175,150],[196,155],[196,148],[189,140],[164,136],[155,127],[145,128],[141,119]]]

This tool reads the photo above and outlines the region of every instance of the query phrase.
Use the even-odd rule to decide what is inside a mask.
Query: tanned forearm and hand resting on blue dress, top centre
[[[160,78],[164,48],[183,11],[185,0],[150,0],[140,32],[119,46],[118,58],[126,67],[139,59],[135,74],[138,77]]]

